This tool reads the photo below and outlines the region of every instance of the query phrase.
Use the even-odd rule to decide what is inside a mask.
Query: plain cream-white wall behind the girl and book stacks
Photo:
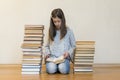
[[[95,40],[95,63],[120,63],[119,0],[0,0],[0,64],[20,64],[25,24],[49,27],[62,8],[76,40]],[[45,42],[46,42],[45,36]]]

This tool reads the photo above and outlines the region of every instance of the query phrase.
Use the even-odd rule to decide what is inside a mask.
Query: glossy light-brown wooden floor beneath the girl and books
[[[40,75],[22,75],[20,65],[0,65],[0,80],[120,80],[120,67],[94,67],[94,72],[47,74],[43,65]]]

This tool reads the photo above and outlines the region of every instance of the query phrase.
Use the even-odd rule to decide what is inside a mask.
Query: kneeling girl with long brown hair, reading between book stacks
[[[45,60],[63,56],[64,61],[54,63],[46,61],[46,71],[49,74],[60,72],[68,74],[70,60],[73,59],[75,38],[70,28],[66,27],[64,13],[61,9],[54,9],[51,13],[48,44],[46,45]]]

